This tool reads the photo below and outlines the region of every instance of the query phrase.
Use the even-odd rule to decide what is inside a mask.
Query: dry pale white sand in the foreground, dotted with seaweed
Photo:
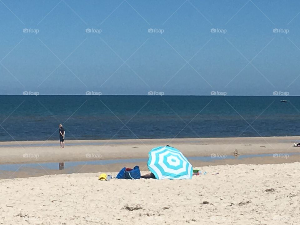
[[[300,163],[200,169],[207,174],[192,180],[106,182],[100,173],[0,180],[0,223],[300,224]]]

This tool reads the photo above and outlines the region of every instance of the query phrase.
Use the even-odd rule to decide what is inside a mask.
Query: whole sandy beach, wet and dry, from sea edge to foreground
[[[294,142],[297,137],[93,140],[70,141],[65,149],[57,142],[0,143],[0,166],[22,163],[0,171],[0,224],[299,224],[300,148]],[[101,162],[148,158],[151,148],[166,144],[186,157],[211,158],[190,160],[207,174],[98,181],[100,173],[116,176],[124,166],[148,173],[146,161]],[[214,160],[217,155],[228,156]],[[82,164],[64,170],[26,167],[76,160]],[[100,164],[87,164],[95,160]]]

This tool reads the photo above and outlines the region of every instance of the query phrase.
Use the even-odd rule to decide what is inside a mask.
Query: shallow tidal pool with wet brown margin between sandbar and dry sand
[[[274,158],[273,154],[227,155],[224,158],[211,156],[188,157],[193,167],[234,164],[277,164],[300,162],[300,153],[288,153],[287,158]],[[0,164],[0,179],[37,177],[52,174],[70,173],[113,173],[123,167],[133,168],[135,165],[147,170],[148,158],[96,160],[96,161],[70,161],[66,168],[64,162],[56,163],[28,163],[28,164]],[[59,169],[59,170],[57,170]]]

